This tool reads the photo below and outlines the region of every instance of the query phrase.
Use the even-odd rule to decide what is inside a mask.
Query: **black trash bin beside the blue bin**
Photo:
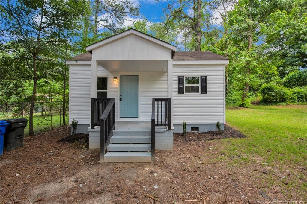
[[[25,118],[6,119],[8,126],[4,134],[4,150],[14,150],[18,147],[23,147],[25,127],[28,120]]]

